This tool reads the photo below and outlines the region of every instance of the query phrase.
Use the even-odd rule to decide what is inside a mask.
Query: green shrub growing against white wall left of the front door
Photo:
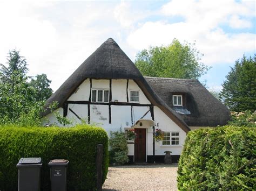
[[[128,147],[126,135],[124,132],[111,131],[110,132],[110,163],[116,165],[123,165],[129,161],[127,157]]]

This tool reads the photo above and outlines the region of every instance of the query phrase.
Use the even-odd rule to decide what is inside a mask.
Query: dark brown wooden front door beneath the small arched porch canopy
[[[134,129],[134,161],[146,162],[146,129]]]

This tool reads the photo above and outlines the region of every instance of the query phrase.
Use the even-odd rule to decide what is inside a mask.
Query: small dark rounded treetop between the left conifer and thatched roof
[[[30,86],[35,89],[33,97],[36,101],[47,100],[52,95],[50,83],[51,80],[47,78],[46,74],[36,75],[36,79],[30,81]]]

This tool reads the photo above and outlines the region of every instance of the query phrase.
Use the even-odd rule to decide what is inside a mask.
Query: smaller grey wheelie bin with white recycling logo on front
[[[69,161],[64,159],[51,160],[50,166],[51,191],[66,191],[66,170]]]

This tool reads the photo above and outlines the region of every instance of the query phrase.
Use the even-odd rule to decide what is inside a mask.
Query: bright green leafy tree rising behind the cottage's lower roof
[[[136,55],[135,65],[144,76],[198,79],[210,69],[200,62],[201,55],[195,44],[173,39],[169,46],[143,49]]]

